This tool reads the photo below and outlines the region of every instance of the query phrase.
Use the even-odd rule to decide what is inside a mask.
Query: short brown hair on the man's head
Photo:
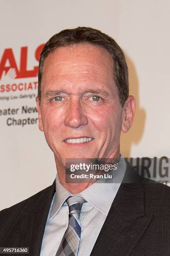
[[[113,77],[118,88],[120,103],[123,106],[129,94],[128,84],[128,67],[122,49],[118,46],[113,38],[105,33],[94,29],[78,27],[74,29],[65,29],[60,33],[52,36],[45,44],[40,56],[39,73],[38,73],[38,98],[41,100],[41,80],[43,74],[43,65],[46,57],[59,47],[69,46],[73,44],[92,44],[100,46],[113,59]]]

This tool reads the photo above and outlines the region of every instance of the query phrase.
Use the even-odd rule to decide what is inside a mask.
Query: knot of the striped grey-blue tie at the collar
[[[82,204],[87,201],[82,196],[75,195],[68,197],[66,202],[69,207],[69,213],[75,214],[79,218]]]

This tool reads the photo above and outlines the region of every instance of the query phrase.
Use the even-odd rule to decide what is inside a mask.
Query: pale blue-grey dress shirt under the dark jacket
[[[105,222],[112,202],[122,182],[126,170],[125,159],[120,157],[117,175],[112,183],[95,182],[80,192],[87,201],[80,212],[81,238],[78,256],[90,256],[93,246]],[[69,208],[65,200],[72,195],[60,184],[56,176],[56,192],[49,210],[40,256],[55,256],[68,226]]]

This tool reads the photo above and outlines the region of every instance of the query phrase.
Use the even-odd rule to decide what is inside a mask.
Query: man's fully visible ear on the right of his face
[[[128,96],[128,99],[125,101],[125,104],[123,106],[122,132],[124,133],[127,133],[133,124],[135,108],[136,100],[132,95],[130,95]]]

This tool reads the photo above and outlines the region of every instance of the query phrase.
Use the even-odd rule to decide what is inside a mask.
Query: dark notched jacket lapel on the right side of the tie
[[[143,178],[131,174],[127,165],[123,182],[132,183],[120,185],[90,256],[129,256],[152,220],[145,215]]]

